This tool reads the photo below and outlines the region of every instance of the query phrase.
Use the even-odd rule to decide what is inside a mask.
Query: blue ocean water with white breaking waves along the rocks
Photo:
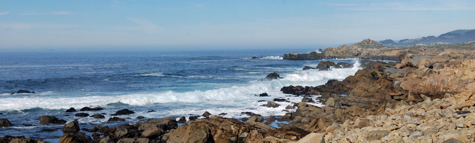
[[[355,63],[354,68],[332,71],[307,70],[320,60],[283,60],[300,50],[203,50],[203,51],[127,51],[127,52],[45,52],[0,53],[0,118],[13,126],[0,128],[0,136],[25,135],[35,138],[59,138],[63,125],[41,125],[38,117],[53,115],[68,122],[78,120],[80,127],[133,124],[163,117],[189,117],[227,113],[227,118],[248,117],[251,111],[263,116],[284,115],[287,105],[301,97],[281,93],[289,85],[318,86],[329,79],[342,80],[358,69],[357,59],[332,59]],[[259,58],[251,58],[258,56]],[[258,81],[271,72],[280,80]],[[27,89],[36,93],[10,93]],[[255,94],[269,93],[270,97]],[[262,107],[274,98],[277,108]],[[321,106],[319,103],[315,105]],[[102,107],[100,111],[66,113],[74,107]],[[126,122],[107,122],[110,114],[123,108],[135,111],[122,115]],[[147,112],[155,110],[155,112]],[[292,110],[291,110],[292,111]],[[74,117],[75,113],[106,113],[104,119]],[[145,119],[135,119],[144,116]],[[45,128],[55,132],[40,132]]]

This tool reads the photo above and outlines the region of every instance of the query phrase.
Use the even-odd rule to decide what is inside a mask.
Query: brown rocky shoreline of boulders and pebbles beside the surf
[[[220,117],[225,113],[205,112],[204,118],[190,117],[188,122],[184,117],[178,121],[166,117],[90,129],[81,128],[77,121],[65,124],[53,117],[40,117],[40,121],[65,124],[60,143],[471,143],[475,142],[475,42],[462,44],[469,46],[460,49],[457,46],[461,44],[451,44],[405,50],[379,47],[379,52],[384,50],[388,57],[397,57],[398,62],[363,60],[364,69],[343,81],[329,80],[316,87],[283,87],[283,93],[301,96],[302,102],[286,107],[296,110],[282,117],[264,118],[243,111],[251,117],[241,122]],[[379,44],[367,39],[353,46],[374,45]],[[321,54],[332,51],[327,50]],[[366,52],[372,53],[372,50]],[[384,56],[368,53],[338,56]],[[324,64],[317,68],[331,70],[334,67],[334,63]],[[272,73],[263,80],[279,78],[277,73]],[[260,95],[267,96],[267,93]],[[309,104],[315,101],[325,106]],[[269,101],[263,106],[279,105]],[[133,111],[123,109],[115,113],[122,114],[133,114]],[[120,122],[120,119],[110,118],[111,122]],[[269,125],[276,121],[289,124],[278,123],[280,128]],[[0,126],[9,125],[7,119],[0,120]],[[24,137],[0,138],[0,143],[9,142],[44,143]]]

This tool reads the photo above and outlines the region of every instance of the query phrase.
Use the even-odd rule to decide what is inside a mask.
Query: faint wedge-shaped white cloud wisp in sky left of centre
[[[132,23],[137,24],[138,26],[121,26],[115,27],[119,31],[141,31],[145,33],[156,33],[162,30],[162,27],[158,26],[155,23],[150,22],[146,18],[127,18]]]

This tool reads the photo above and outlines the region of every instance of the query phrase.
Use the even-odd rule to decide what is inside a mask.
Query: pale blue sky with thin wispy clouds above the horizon
[[[475,29],[474,0],[1,0],[0,52],[323,48]]]

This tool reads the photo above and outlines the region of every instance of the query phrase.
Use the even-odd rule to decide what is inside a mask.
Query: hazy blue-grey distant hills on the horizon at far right
[[[454,30],[440,36],[426,36],[416,39],[402,39],[394,42],[391,39],[380,41],[385,46],[413,46],[415,44],[432,44],[432,43],[462,43],[475,41],[475,29],[471,30]]]

